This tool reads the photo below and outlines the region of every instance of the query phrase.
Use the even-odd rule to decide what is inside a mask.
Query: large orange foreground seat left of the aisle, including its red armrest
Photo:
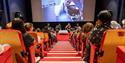
[[[13,63],[28,63],[28,60],[31,63],[35,63],[34,45],[32,44],[28,48],[30,53],[29,58],[26,55],[26,48],[20,31],[12,29],[0,30],[0,44],[10,44],[12,46]]]

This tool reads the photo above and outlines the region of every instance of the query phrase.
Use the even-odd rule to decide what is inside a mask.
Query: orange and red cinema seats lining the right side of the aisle
[[[77,34],[81,35],[81,34]],[[88,39],[86,39],[86,42],[82,42],[81,38],[71,37],[71,43],[76,49],[79,49],[79,51],[82,51],[81,55],[84,57],[84,51],[85,46],[84,44],[87,43]],[[78,42],[80,44],[78,44]],[[78,46],[78,47],[76,47]],[[102,57],[98,56],[95,58],[96,54],[96,46],[92,43],[90,43],[91,51],[90,51],[90,63],[94,63],[95,60],[98,61],[98,63],[116,63],[117,61],[117,53],[116,48],[118,46],[124,46],[125,47],[125,30],[124,29],[110,29],[104,32],[102,40],[101,40],[101,46],[99,48],[99,51],[104,51],[104,54]],[[117,63],[121,63],[118,62]],[[125,63],[125,62],[123,62]]]

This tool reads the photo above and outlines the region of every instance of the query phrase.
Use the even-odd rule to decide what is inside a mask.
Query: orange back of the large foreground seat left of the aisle
[[[18,54],[20,58],[23,58],[23,61],[26,63],[26,57],[21,56],[21,52],[26,52],[22,34],[20,31],[11,30],[11,29],[2,29],[0,30],[0,44],[10,44],[12,46],[13,52],[13,63],[18,63],[16,60],[15,54]]]

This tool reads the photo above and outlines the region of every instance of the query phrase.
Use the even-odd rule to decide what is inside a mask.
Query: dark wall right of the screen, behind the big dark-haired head
[[[125,1],[124,0],[96,0],[95,16],[99,11],[108,9],[113,12],[113,20],[121,23],[125,19]]]

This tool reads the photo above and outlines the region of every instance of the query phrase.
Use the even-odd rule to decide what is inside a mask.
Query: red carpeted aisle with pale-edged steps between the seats
[[[69,41],[58,41],[40,63],[84,63]]]

